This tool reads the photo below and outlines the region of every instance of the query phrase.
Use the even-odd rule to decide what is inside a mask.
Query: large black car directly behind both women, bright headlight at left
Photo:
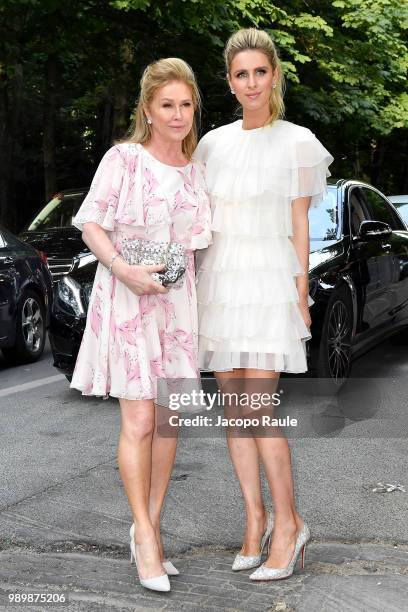
[[[408,326],[408,232],[382,193],[351,180],[330,184],[309,221],[315,302],[309,366],[311,373],[340,382],[357,354]],[[77,268],[60,280],[51,314],[54,365],[68,377],[96,270],[96,262],[85,263],[79,257]]]

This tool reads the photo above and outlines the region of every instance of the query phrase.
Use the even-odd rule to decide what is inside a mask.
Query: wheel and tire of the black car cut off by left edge
[[[16,364],[37,361],[44,351],[46,333],[44,302],[35,291],[28,289],[18,305],[16,342],[2,349],[5,358]]]

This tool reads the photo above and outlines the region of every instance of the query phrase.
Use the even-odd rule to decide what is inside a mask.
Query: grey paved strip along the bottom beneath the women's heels
[[[75,549],[75,547],[72,547]],[[54,550],[53,550],[54,549]],[[0,554],[0,602],[5,591],[63,592],[66,605],[6,605],[7,610],[125,612],[245,610],[403,612],[408,610],[408,547],[312,542],[306,567],[276,583],[232,573],[232,551],[198,550],[173,559],[180,576],[170,593],[140,586],[125,547],[109,551],[42,553],[18,548]],[[1,605],[1,604],[0,604]],[[4,604],[3,604],[4,605]]]

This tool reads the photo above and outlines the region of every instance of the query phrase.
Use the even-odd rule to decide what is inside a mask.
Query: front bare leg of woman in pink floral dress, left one
[[[142,578],[163,574],[149,515],[154,405],[152,400],[121,399],[118,464],[135,523],[136,557]]]

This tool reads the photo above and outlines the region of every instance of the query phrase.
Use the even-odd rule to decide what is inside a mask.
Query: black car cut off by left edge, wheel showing
[[[51,303],[44,253],[0,227],[0,348],[7,361],[29,363],[41,357]]]

